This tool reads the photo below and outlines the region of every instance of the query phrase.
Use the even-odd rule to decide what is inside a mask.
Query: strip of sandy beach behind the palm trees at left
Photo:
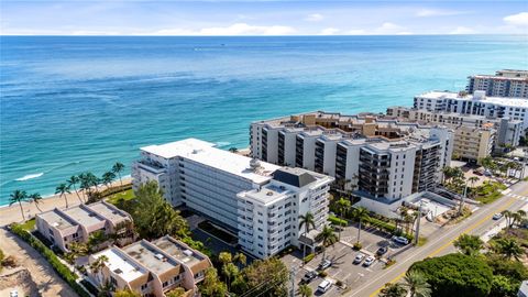
[[[123,178],[123,184],[131,183],[131,180],[132,179],[130,177]],[[120,185],[120,182],[117,180],[112,185]],[[81,193],[79,193],[79,196],[81,199],[85,199]],[[68,207],[77,206],[80,204],[80,200],[75,194],[75,191],[72,191],[72,194],[66,195],[66,198],[68,200]],[[41,208],[42,211],[52,210],[54,208],[66,208],[66,201],[64,197],[58,197],[58,195],[54,195],[47,198],[43,198],[41,200],[41,204],[38,204],[38,208]],[[36,208],[35,204],[24,202],[22,204],[22,209],[24,210],[25,219],[33,218],[35,217],[35,215],[41,212]],[[22,221],[22,215],[20,211],[19,204],[14,204],[10,207],[0,208],[0,227],[10,224],[12,222],[21,222],[21,221]]]

